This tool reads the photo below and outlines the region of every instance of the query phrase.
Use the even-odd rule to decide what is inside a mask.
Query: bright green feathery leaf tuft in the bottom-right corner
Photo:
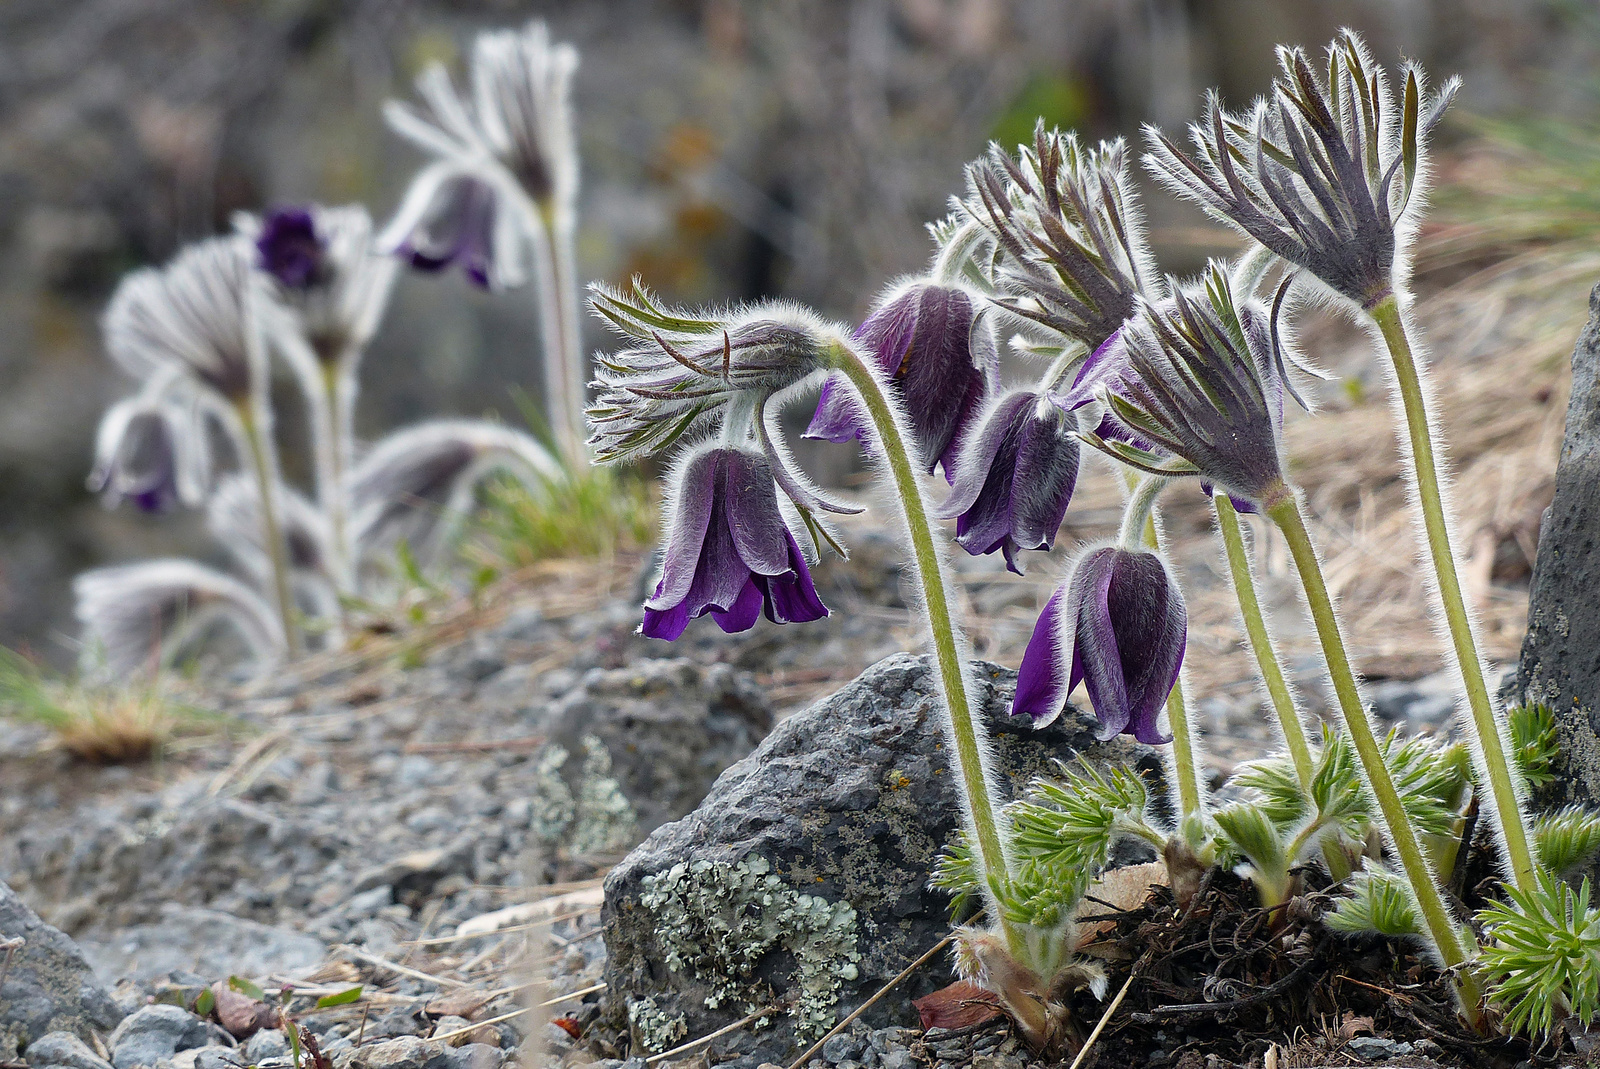
[[[1600,911],[1589,906],[1589,880],[1574,891],[1539,872],[1534,887],[1506,895],[1478,914],[1490,935],[1478,962],[1507,1031],[1549,1035],[1568,1015],[1587,1024],[1600,1011]]]

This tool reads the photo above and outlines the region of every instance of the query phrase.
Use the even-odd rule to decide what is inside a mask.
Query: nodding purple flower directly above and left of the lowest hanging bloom
[[[941,518],[955,517],[955,541],[973,555],[1005,554],[1022,575],[1019,549],[1050,549],[1078,480],[1077,421],[1056,400],[1030,390],[1000,397],[962,448]]]

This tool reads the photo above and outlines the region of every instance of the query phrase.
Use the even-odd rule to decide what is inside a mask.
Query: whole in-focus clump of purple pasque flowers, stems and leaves
[[[1544,992],[1542,1016],[1514,1008],[1514,1023],[1547,1031],[1555,1013],[1595,1010],[1594,915],[1587,895],[1581,903],[1560,898],[1538,856],[1526,787],[1461,587],[1443,450],[1413,347],[1406,285],[1426,139],[1456,83],[1429,94],[1422,72],[1408,66],[1390,91],[1386,72],[1350,32],[1328,48],[1325,74],[1301,50],[1280,50],[1278,59],[1278,82],[1251,110],[1226,112],[1216,94],[1208,98],[1192,149],[1147,130],[1146,166],[1251,243],[1197,280],[1155,274],[1123,142],[1086,149],[1040,123],[1032,146],[1016,155],[994,146],[968,168],[966,195],[952,198],[950,216],[930,227],[938,251],[928,275],[890,288],[853,331],[789,304],[701,315],[661,307],[637,282],[630,291],[592,288],[595,312],[624,339],[621,350],[600,357],[594,384],[597,459],[669,451],[683,458],[669,483],[662,573],[645,607],[645,634],[674,639],[706,613],[725,631],[752,626],[760,608],[776,623],[826,615],[789,517],[821,552],[824,543],[838,549],[821,514],[854,509],[827,499],[795,469],[774,419],[786,400],[821,381],[808,435],[861,440],[878,464],[898,502],[962,783],[965,839],[944,875],[976,893],[989,917],[987,928],[960,931],[957,957],[1042,1045],[1059,1039],[1074,984],[1094,986],[1070,951],[1082,872],[1051,867],[1048,850],[1022,847],[1032,834],[1018,824],[1027,805],[1008,805],[990,768],[936,520],[957,520],[955,543],[966,552],[1002,551],[1019,570],[1018,552],[1048,549],[1054,539],[1080,445],[1123,472],[1125,518],[1115,541],[1077,555],[1046,605],[1013,712],[1046,723],[1083,680],[1107,736],[1170,743],[1176,827],[1152,831],[1141,803],[1141,811],[1123,815],[1122,831],[1160,840],[1174,891],[1192,893],[1195,872],[1211,864],[1243,861],[1261,877],[1264,904],[1278,906],[1290,869],[1320,850],[1334,880],[1368,888],[1358,909],[1346,911],[1347,922],[1360,911],[1382,912],[1374,906],[1381,891],[1394,893],[1387,922],[1373,927],[1421,939],[1451,976],[1474,1026],[1490,1027],[1485,978],[1499,984],[1490,995],[1518,1005],[1528,992]],[[1397,395],[1424,568],[1466,695],[1472,770],[1459,760],[1454,781],[1450,767],[1459,752],[1374,731],[1304,496],[1285,474],[1285,398],[1301,402],[1294,379],[1310,373],[1286,320],[1317,301],[1368,326]],[[994,322],[1014,330],[1011,346],[1021,355],[1048,362],[1037,384],[998,387]],[[1091,419],[1080,424],[1080,413]],[[934,507],[925,477],[939,466],[950,493]],[[1248,643],[1282,731],[1288,792],[1298,795],[1278,807],[1283,827],[1256,819],[1270,807],[1216,807],[1202,784],[1200,731],[1181,674],[1182,594],[1162,552],[1155,510],[1165,490],[1195,482],[1214,501]],[[1293,559],[1338,714],[1320,751],[1274,650],[1240,510],[1275,526]],[[1158,727],[1163,711],[1170,738]],[[1258,771],[1250,786],[1269,779]],[[1126,783],[1118,783],[1123,791]],[[1448,783],[1459,787],[1442,786]],[[1094,776],[1075,786],[1110,789]],[[1450,872],[1437,871],[1429,853],[1440,827],[1419,826],[1416,811],[1419,792],[1443,792],[1448,797],[1437,800],[1453,819],[1474,787],[1512,903],[1485,915],[1491,936],[1507,933],[1488,946],[1446,901],[1442,880]],[[1592,815],[1571,821],[1587,829],[1584,842],[1600,843]],[[1445,824],[1459,835],[1461,823]],[[1115,831],[1094,834],[1104,840]],[[1091,864],[1104,861],[1090,856]],[[1557,919],[1550,931],[1571,938],[1552,939],[1560,949],[1542,959],[1518,959],[1507,951],[1515,939],[1506,917],[1526,920],[1533,912]],[[1531,943],[1538,939],[1517,946],[1526,951]]]

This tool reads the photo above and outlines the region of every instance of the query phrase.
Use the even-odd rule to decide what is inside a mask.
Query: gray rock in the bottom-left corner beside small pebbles
[[[78,946],[0,883],[0,943],[22,939],[0,984],[0,1037],[18,1047],[51,1032],[109,1031],[122,1011]],[[6,952],[0,951],[0,963]]]

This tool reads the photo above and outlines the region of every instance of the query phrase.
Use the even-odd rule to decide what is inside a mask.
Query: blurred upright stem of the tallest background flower
[[[550,200],[534,205],[542,234],[534,238],[539,330],[544,336],[544,394],[550,434],[568,474],[589,464],[584,446],[582,334],[578,326],[578,264],[570,213]]]

